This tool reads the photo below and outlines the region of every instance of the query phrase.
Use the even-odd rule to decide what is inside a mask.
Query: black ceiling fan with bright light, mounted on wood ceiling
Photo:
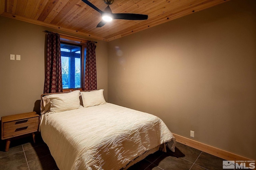
[[[108,5],[104,11],[97,8],[94,4],[92,4],[88,0],[82,0],[82,1],[101,14],[102,20],[100,21],[100,23],[98,23],[96,27],[102,27],[107,22],[116,20],[116,19],[120,19],[120,20],[147,20],[148,19],[148,15],[144,15],[144,14],[128,14],[128,13],[113,14],[109,5],[113,4],[114,0],[104,0],[105,4]]]

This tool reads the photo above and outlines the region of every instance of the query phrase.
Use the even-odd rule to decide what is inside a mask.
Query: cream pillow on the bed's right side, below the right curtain
[[[81,92],[84,107],[97,106],[105,104],[103,89],[90,92]]]

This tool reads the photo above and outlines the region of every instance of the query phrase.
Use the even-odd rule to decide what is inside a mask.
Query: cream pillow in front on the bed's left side
[[[47,96],[51,103],[50,111],[61,112],[78,109],[80,106],[79,94],[80,90],[70,93],[50,94]]]

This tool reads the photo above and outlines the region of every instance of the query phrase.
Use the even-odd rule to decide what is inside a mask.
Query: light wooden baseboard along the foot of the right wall
[[[243,156],[233,154],[231,152],[228,152],[226,150],[218,149],[215,147],[212,147],[210,145],[206,145],[204,143],[200,143],[197,141],[194,141],[192,139],[188,139],[186,137],[182,137],[180,135],[173,134],[176,138],[176,142],[182,143],[184,145],[187,145],[189,147],[202,150],[203,152],[206,152],[208,154],[212,154],[214,156],[218,156],[219,158],[225,159],[225,160],[251,160],[249,158],[245,158]]]

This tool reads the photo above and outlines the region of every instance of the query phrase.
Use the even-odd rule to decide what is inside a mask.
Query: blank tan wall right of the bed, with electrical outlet
[[[256,160],[255,9],[232,0],[110,41],[108,102]]]

